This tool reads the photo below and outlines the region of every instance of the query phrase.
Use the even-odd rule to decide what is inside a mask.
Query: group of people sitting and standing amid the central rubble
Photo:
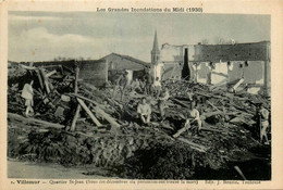
[[[158,100],[158,110],[160,113],[161,122],[165,119],[165,109],[167,109],[167,101],[170,98],[170,92],[167,87],[162,88],[162,84],[159,77],[153,78],[149,72],[146,74],[142,79],[135,78],[131,84],[128,83],[127,72],[123,72],[122,75],[116,79],[115,87],[113,90],[113,98],[115,97],[116,92],[120,90],[121,92],[121,101],[123,100],[124,93],[126,90],[131,92],[140,92],[148,96],[153,96]],[[187,93],[188,99],[192,102],[192,109],[188,111],[187,118],[185,122],[186,129],[194,128],[190,124],[197,125],[197,134],[201,130],[201,119],[199,115],[199,111],[196,107],[196,102],[193,99],[193,92],[189,91]],[[151,119],[151,105],[148,103],[147,98],[143,98],[137,106],[137,113],[140,118],[140,122],[145,125],[150,124]]]

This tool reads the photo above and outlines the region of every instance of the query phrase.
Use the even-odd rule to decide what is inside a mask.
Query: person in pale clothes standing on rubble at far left
[[[23,90],[22,90],[22,97],[25,99],[25,105],[26,111],[25,115],[29,116],[29,112],[34,113],[34,89],[33,89],[34,80],[30,81],[30,84],[25,84]]]

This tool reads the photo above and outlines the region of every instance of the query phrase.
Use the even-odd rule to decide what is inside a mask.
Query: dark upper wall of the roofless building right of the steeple
[[[227,61],[269,61],[270,42],[235,43],[235,45],[163,45],[161,61],[184,60],[184,50],[188,49],[188,61],[227,62]]]

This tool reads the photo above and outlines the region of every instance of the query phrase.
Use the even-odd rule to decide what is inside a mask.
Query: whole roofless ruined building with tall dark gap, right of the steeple
[[[177,69],[176,75],[164,75],[163,79],[183,77],[216,86],[237,85],[251,93],[259,90],[270,92],[269,41],[235,45],[164,43],[160,51],[160,63],[170,65],[172,71]]]

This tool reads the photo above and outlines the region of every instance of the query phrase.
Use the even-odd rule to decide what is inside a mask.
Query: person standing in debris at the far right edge
[[[260,128],[260,142],[263,142],[263,138],[266,140],[266,144],[269,144],[267,128],[269,127],[269,111],[263,107],[262,103],[259,104],[259,128]]]

